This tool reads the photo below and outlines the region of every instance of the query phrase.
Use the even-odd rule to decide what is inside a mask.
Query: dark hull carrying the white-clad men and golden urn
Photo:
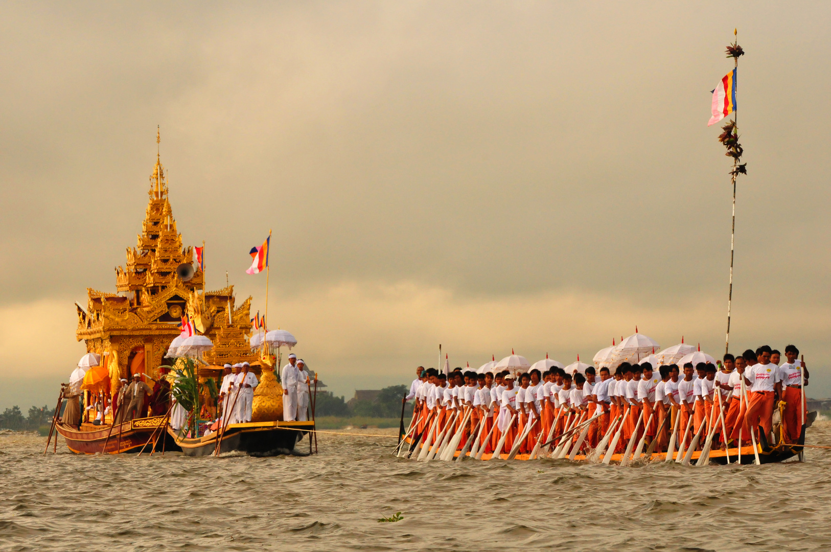
[[[314,430],[314,421],[255,421],[229,424],[220,445],[220,454],[241,452],[248,456],[298,454],[294,446],[303,435]],[[199,438],[179,435],[168,426],[167,434],[184,456],[210,456],[216,449],[218,433]]]

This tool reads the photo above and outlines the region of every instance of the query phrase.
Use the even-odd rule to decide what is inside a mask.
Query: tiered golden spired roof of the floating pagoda
[[[86,310],[77,305],[76,338],[86,341],[88,352],[114,354],[118,373],[111,372],[111,377],[115,381],[127,376],[139,353],[145,357],[141,371],[156,378],[170,342],[179,335],[183,313],[189,313],[200,333],[214,343],[214,349],[204,355],[206,362],[256,360],[245,340],[251,333],[251,298],[236,307],[234,286],[204,293],[204,274],[198,266],[192,278],[183,280],[177,274],[180,265],[192,263],[194,252],[182,246],[158,153],[148,195],[138,243],[127,249],[125,268],[116,268],[118,293],[87,288]]]

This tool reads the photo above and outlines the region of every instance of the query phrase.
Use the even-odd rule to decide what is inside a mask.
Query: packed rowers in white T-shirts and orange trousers
[[[781,437],[792,443],[799,439],[807,413],[801,387],[808,384],[808,370],[793,345],[785,347],[785,356],[787,362],[779,366],[779,351],[765,345],[740,357],[725,354],[715,365],[687,362],[655,371],[649,362],[622,362],[613,373],[607,367],[573,373],[551,367],[544,373],[456,368],[445,374],[419,367],[404,399],[416,401],[409,433],[422,447],[460,433],[455,450],[528,454],[538,451],[541,442],[550,450],[560,436],[577,441],[578,433],[569,429],[583,424],[588,431],[582,432],[583,443],[575,445],[578,453],[593,451],[601,441],[608,445],[604,437],[615,432],[619,438],[608,448],[612,454],[631,450],[632,440],[656,441],[653,452],[668,446],[679,451],[694,442],[701,448],[704,439],[694,441],[693,436],[702,433],[711,436],[713,448],[725,449],[762,442],[760,432],[769,443],[779,441],[771,433],[772,416],[782,401]],[[522,440],[519,447],[514,446],[517,439]]]

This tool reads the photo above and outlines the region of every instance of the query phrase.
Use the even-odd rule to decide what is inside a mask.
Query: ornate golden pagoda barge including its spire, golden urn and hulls
[[[251,297],[237,306],[232,285],[205,291],[204,271],[199,264],[192,264],[193,248],[182,245],[170,208],[165,169],[158,154],[148,195],[150,200],[138,243],[135,248],[127,249],[125,268],[116,268],[117,293],[87,288],[86,308],[76,303],[76,338],[84,340],[87,352],[96,353],[101,363],[106,363],[106,381],[99,382],[94,391],[81,392],[81,397],[65,397],[67,401],[79,398],[82,401],[81,422],[63,423],[57,417],[61,410],[58,408],[55,430],[64,437],[69,450],[78,454],[164,449],[182,451],[187,456],[205,456],[214,453],[218,434],[222,435],[219,453],[292,453],[301,436],[314,429],[314,422],[282,421],[283,388],[270,366],[274,363],[273,357],[264,362],[258,360],[247,341],[251,333]],[[161,387],[163,392],[159,394],[166,393],[168,397],[159,400],[151,396],[150,405],[145,405],[147,412],[113,425],[112,413],[106,407],[111,397],[118,395],[121,378],[129,381],[137,373],[151,387],[155,383],[157,389],[165,379],[173,382],[173,377],[161,374],[160,367],[175,363],[175,359],[167,357],[167,352],[170,343],[179,336],[179,323],[185,315],[214,344],[201,359],[205,366],[198,372],[202,384],[200,404],[208,411],[207,415],[215,417],[216,405],[210,397],[209,386],[204,384],[211,378],[219,388],[222,365],[250,362],[260,381],[254,392],[253,422],[230,424],[224,431],[209,436],[184,436],[168,424],[170,392]],[[98,425],[91,421],[87,408],[93,396],[101,398],[106,412]],[[61,397],[64,397],[62,392]],[[119,416],[117,409],[116,415]]]

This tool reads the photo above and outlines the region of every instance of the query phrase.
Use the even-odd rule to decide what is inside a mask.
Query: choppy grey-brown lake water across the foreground
[[[831,422],[808,436],[831,445]],[[62,441],[44,456],[45,441],[0,431],[0,550],[831,550],[823,449],[621,468],[417,462],[391,456],[394,439],[331,434],[309,457],[76,456]]]

